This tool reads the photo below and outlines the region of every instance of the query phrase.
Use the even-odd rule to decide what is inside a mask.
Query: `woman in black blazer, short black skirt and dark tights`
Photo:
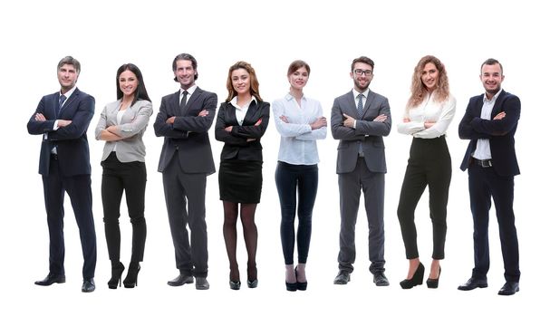
[[[220,105],[216,120],[216,139],[225,142],[219,167],[219,193],[224,205],[224,239],[229,258],[229,286],[240,288],[236,263],[236,220],[240,204],[245,235],[247,284],[257,286],[256,205],[262,192],[262,144],[260,139],[269,121],[269,103],[262,101],[254,68],[236,62],[227,75],[227,99]]]

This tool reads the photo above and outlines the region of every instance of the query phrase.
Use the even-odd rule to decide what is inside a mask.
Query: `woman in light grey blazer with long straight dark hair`
[[[145,145],[143,133],[147,128],[153,107],[145,89],[140,69],[132,64],[123,64],[117,71],[117,101],[101,111],[95,129],[95,139],[106,141],[101,158],[101,200],[105,237],[111,260],[109,288],[121,285],[124,265],[121,264],[121,216],[122,192],[133,230],[130,267],[124,279],[124,287],[138,285],[140,262],[143,260],[147,227],[145,217]]]

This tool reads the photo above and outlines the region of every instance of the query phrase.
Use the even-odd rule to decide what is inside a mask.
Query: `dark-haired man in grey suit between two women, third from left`
[[[205,221],[207,176],[216,171],[208,129],[216,114],[217,95],[197,87],[197,60],[181,53],[172,62],[176,93],[164,96],[155,121],[155,134],[164,137],[160,153],[164,196],[179,275],[170,286],[193,283],[207,290],[208,251]],[[191,231],[189,244],[188,230]]]

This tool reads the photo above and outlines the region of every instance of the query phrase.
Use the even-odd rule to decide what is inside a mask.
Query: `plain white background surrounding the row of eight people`
[[[543,133],[547,108],[547,14],[535,1],[17,1],[0,5],[0,87],[4,102],[0,164],[0,314],[27,315],[150,315],[214,313],[334,315],[411,313],[413,315],[512,315],[543,308],[549,283],[545,203],[549,177],[547,141]],[[544,31],[546,30],[546,31]],[[545,40],[546,39],[546,40]],[[295,59],[312,67],[307,96],[322,102],[330,117],[334,97],[350,91],[352,59],[367,55],[375,62],[371,90],[387,96],[393,130],[385,138],[386,274],[391,286],[377,288],[368,272],[367,223],[360,210],[357,223],[357,260],[352,282],[333,285],[337,273],[339,205],[335,174],[337,142],[328,133],[318,141],[319,190],[314,208],[314,233],[308,259],[306,292],[285,291],[284,260],[280,246],[280,211],[274,173],[278,134],[273,122],[262,139],[264,187],[257,208],[259,232],[258,277],[255,290],[238,292],[228,287],[228,262],[222,235],[223,212],[218,200],[217,174],[207,183],[207,225],[211,288],[198,292],[193,285],[169,287],[176,276],[174,251],[161,183],[156,171],[162,139],[152,129],[159,101],[177,91],[171,62],[178,53],[198,59],[198,86],[227,97],[228,67],[238,60],[256,68],[265,101],[281,98],[288,90],[286,68]],[[80,292],[82,252],[68,197],[65,199],[67,283],[39,287],[48,268],[48,234],[43,208],[43,187],[37,174],[40,138],[30,136],[26,122],[45,94],[59,89],[56,64],[65,55],[82,62],[78,87],[96,99],[96,114],[89,129],[92,151],[93,210],[98,238],[97,289]],[[457,115],[449,127],[453,161],[450,187],[446,259],[438,290],[425,284],[400,289],[408,263],[400,236],[396,209],[406,167],[410,137],[400,135],[400,120],[410,93],[410,76],[420,57],[434,54],[447,66]],[[468,142],[458,139],[458,122],[469,97],[482,93],[479,66],[488,57],[504,65],[503,88],[522,101],[516,132],[516,151],[522,174],[516,177],[516,226],[520,246],[521,292],[497,296],[504,283],[497,221],[491,212],[492,267],[489,287],[459,292],[473,266],[472,221],[468,203],[468,176],[458,169]],[[153,101],[155,113],[145,134],[149,172],[146,192],[148,240],[139,287],[107,288],[111,266],[107,255],[101,210],[101,149],[93,129],[104,105],[114,101],[115,75],[125,62],[137,64]],[[538,117],[538,119],[536,119]],[[216,164],[222,144],[210,132]],[[121,260],[130,261],[131,226],[121,210]],[[417,208],[420,259],[429,266],[431,224],[427,195]],[[238,242],[241,280],[246,281],[246,252]],[[426,278],[426,276],[425,276]],[[542,314],[542,313],[538,313]]]

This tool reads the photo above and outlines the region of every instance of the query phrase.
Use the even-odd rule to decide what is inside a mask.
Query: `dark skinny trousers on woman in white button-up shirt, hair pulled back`
[[[281,161],[277,164],[275,185],[281,203],[281,243],[285,264],[294,264],[296,205],[298,207],[298,263],[307,262],[312,237],[312,214],[319,180],[318,171],[317,164],[294,165]]]

